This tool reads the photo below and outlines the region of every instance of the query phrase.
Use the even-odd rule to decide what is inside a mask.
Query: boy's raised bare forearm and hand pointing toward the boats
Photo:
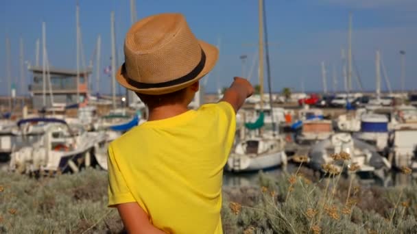
[[[226,101],[233,106],[235,113],[240,109],[245,100],[254,92],[254,88],[247,79],[234,77],[234,81],[230,88],[224,92],[224,96],[220,101]]]

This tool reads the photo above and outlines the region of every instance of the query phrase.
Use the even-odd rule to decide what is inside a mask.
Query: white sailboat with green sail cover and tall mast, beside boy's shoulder
[[[261,94],[263,94],[263,21],[265,17],[263,9],[263,0],[259,0],[259,83],[261,86]],[[267,40],[267,33],[265,28],[265,40]],[[267,52],[267,73],[268,83],[270,84],[270,67],[269,56]],[[270,87],[270,99],[271,87]],[[270,100],[272,105],[272,100]],[[263,109],[263,95],[261,95],[260,107]],[[273,112],[273,108],[271,109]],[[274,114],[271,114],[273,119]],[[257,121],[246,124],[246,128],[252,130],[252,134],[243,134],[243,138],[237,142],[233,152],[228,159],[226,170],[233,172],[249,172],[273,168],[282,164],[287,164],[287,155],[284,151],[285,141],[276,133],[275,125],[272,123],[272,132],[264,132],[265,114],[260,112]],[[244,131],[243,131],[244,132]],[[255,134],[253,134],[255,133]],[[258,133],[258,134],[256,134]]]

